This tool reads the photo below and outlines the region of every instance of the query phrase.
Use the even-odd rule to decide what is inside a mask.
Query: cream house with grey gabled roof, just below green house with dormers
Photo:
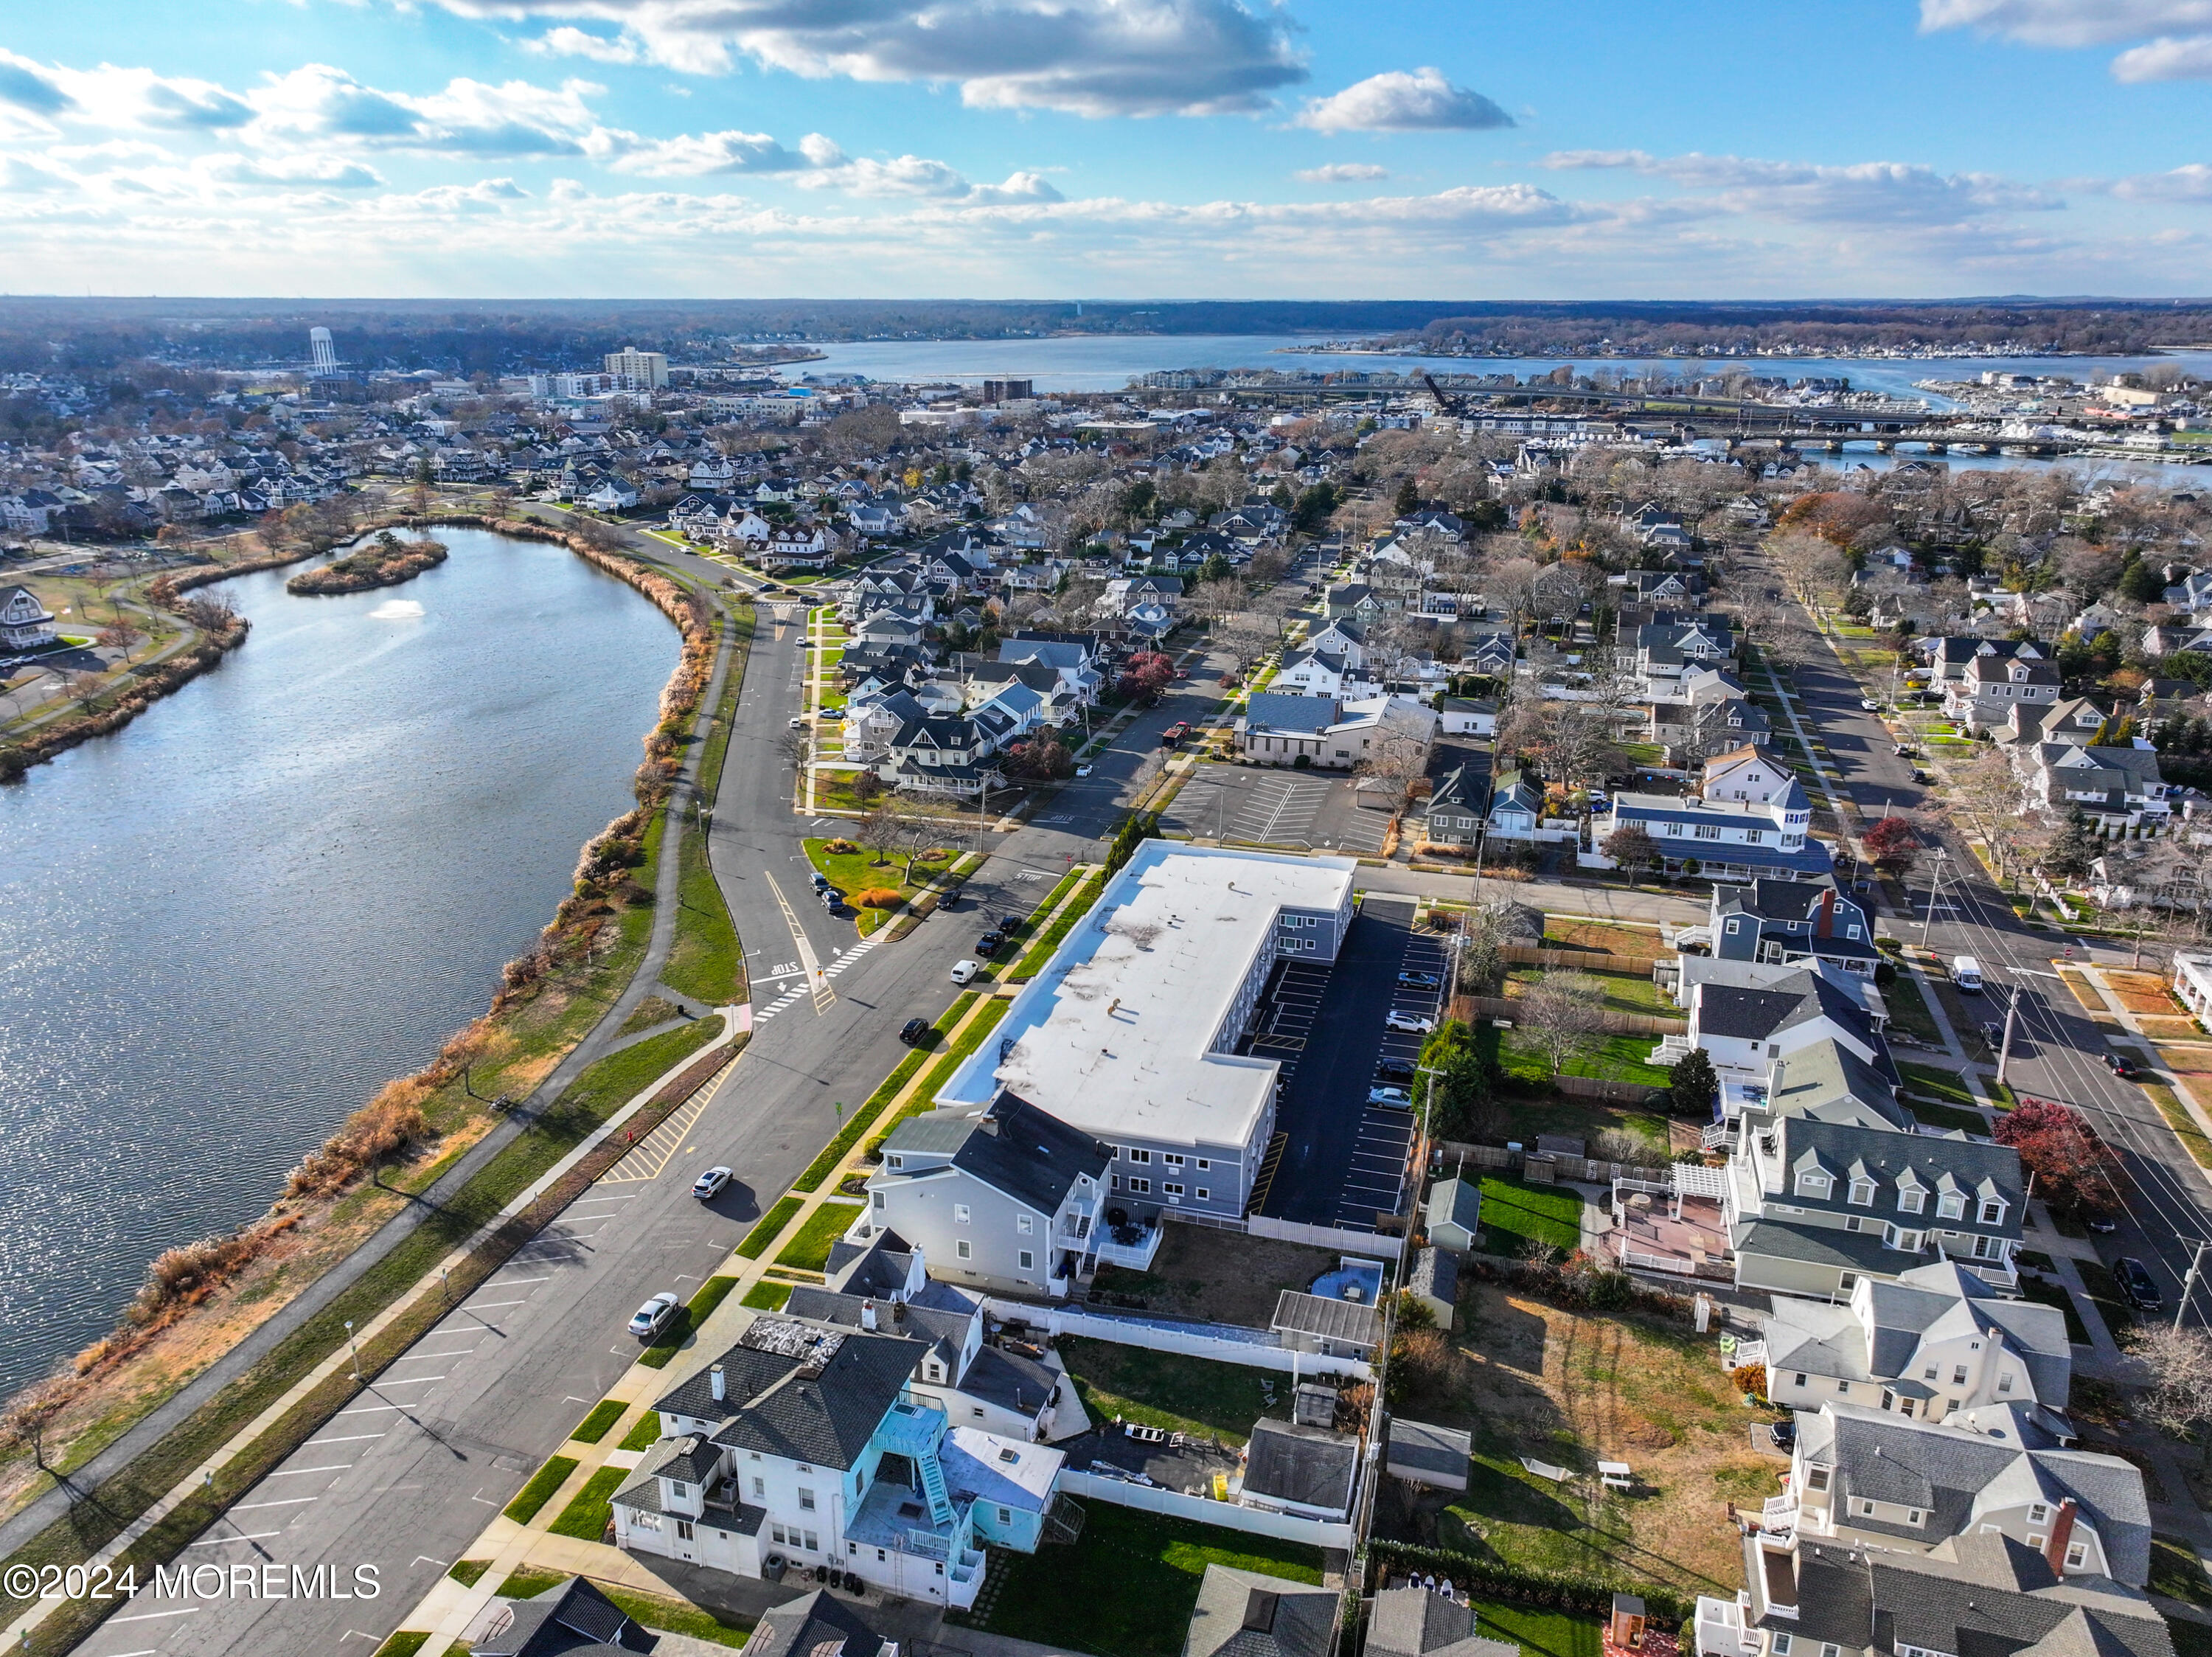
[[[1865,1405],[1920,1420],[2026,1411],[2048,1442],[2073,1440],[2066,1314],[1997,1294],[1953,1261],[1863,1276],[1847,1301],[1774,1296],[1759,1358],[1774,1403]],[[2017,1434],[2013,1442],[2024,1442]]]

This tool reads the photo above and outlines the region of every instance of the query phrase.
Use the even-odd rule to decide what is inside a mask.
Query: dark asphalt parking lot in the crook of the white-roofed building
[[[1285,965],[1254,1024],[1250,1051],[1283,1064],[1276,1130],[1283,1157],[1261,1212],[1312,1226],[1374,1230],[1398,1210],[1413,1115],[1374,1102],[1378,1066],[1411,1069],[1422,1035],[1391,1031],[1394,1009],[1436,1018],[1444,951],[1411,929],[1405,900],[1369,894],[1334,967]],[[1400,984],[1400,973],[1433,984]]]

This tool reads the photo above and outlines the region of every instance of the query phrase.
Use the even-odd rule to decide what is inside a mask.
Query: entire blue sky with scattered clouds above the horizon
[[[2212,0],[13,0],[0,290],[2212,294]]]

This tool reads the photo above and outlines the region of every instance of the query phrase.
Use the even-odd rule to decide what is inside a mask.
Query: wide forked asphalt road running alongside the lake
[[[659,542],[655,557],[670,553]],[[719,564],[668,562],[728,580]],[[376,1599],[192,1599],[139,1595],[82,1650],[95,1657],[296,1657],[372,1653],[493,1513],[624,1374],[630,1312],[657,1290],[690,1294],[836,1133],[838,1104],[865,1100],[898,1064],[898,1026],[953,998],[953,960],[973,951],[982,911],[1031,909],[1068,863],[1099,856],[1126,801],[1161,763],[1159,732],[1212,708],[1197,679],[1144,712],[1093,777],[1064,788],[1044,821],[991,834],[991,858],[956,911],[896,945],[854,949],[852,920],[807,889],[792,812],[792,768],[776,743],[801,708],[803,628],[768,611],[754,637],[723,770],[710,858],[765,1007],[812,953],[830,996],[763,1020],[688,1133],[648,1142],[613,1168],[507,1270],[186,1551],[192,1564],[374,1564]],[[1197,673],[1197,670],[1194,670]],[[776,894],[790,900],[790,909]],[[801,936],[805,947],[801,947]],[[675,1144],[681,1139],[681,1144]],[[728,1164],[730,1188],[690,1199],[697,1170]]]

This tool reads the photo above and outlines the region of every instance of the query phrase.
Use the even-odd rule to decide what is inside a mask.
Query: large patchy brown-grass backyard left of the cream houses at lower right
[[[1458,1325],[1442,1376],[1407,1400],[1475,1440],[1467,1491],[1429,1513],[1438,1546],[1522,1571],[1734,1593],[1741,1549],[1721,1507],[1776,1496],[1785,1462],[1752,1449],[1752,1416],[1710,1338],[1489,1283],[1462,1292]],[[1571,1478],[1542,1478],[1522,1456]],[[1635,1469],[1632,1493],[1599,1487],[1599,1458]]]

